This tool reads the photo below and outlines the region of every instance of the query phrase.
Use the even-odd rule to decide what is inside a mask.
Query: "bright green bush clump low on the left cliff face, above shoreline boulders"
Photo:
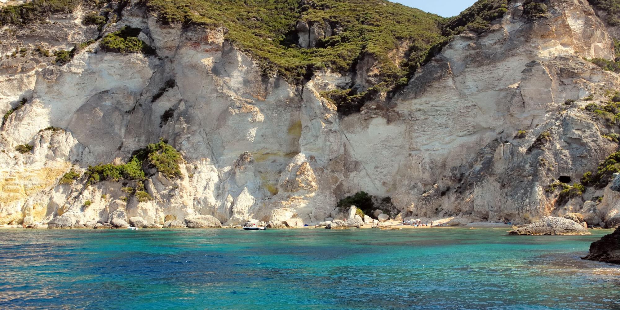
[[[180,177],[179,163],[181,154],[164,141],[151,143],[146,148],[135,151],[126,164],[99,164],[89,166],[84,175],[88,177],[87,185],[103,180],[137,180],[146,179],[146,172],[151,168],[172,179]],[[133,189],[132,189],[133,190]]]

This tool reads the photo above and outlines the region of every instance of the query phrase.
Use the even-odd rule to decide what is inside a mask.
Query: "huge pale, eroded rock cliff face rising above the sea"
[[[384,219],[463,215],[523,224],[560,215],[557,195],[544,188],[560,175],[580,179],[616,149],[582,109],[591,102],[580,99],[592,94],[596,102],[601,88],[619,89],[620,82],[582,59],[614,57],[611,37],[587,2],[548,2],[549,18],[539,20],[523,18],[511,4],[488,32],[454,37],[393,97],[380,96],[342,118],[321,92],[371,86],[371,58],[348,76],[317,72],[292,86],[263,78],[224,39],[225,29],[160,25],[130,4],[110,27],[142,29],[158,56],[105,53],[95,43],[62,66],[36,57],[1,61],[0,114],[22,98],[27,104],[0,129],[6,151],[0,153],[0,224],[25,218],[45,224],[64,214],[80,223],[138,216],[179,227],[192,215],[226,225],[248,219],[316,224],[340,198],[360,190],[391,197],[386,204],[394,212],[373,213]],[[97,38],[97,27],[79,22],[82,15],[46,27],[3,28],[0,52],[35,39],[68,50]],[[299,23],[299,45],[312,47],[342,30],[330,29]],[[170,80],[174,87],[164,87]],[[525,134],[517,138],[519,130]],[[548,138],[538,141],[543,133]],[[179,178],[148,177],[144,187],[153,200],[126,197],[119,182],[87,190],[86,178],[58,184],[71,167],[84,172],[99,162],[126,161],[160,137],[185,163]],[[32,151],[15,151],[25,143]],[[605,188],[594,206],[601,221],[620,224],[618,201],[620,192]],[[590,223],[596,214],[580,213],[596,224]]]

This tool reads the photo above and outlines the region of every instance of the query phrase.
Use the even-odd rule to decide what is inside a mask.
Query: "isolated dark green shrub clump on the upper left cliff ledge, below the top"
[[[99,47],[104,51],[122,54],[140,52],[153,54],[155,52],[154,49],[138,38],[140,31],[139,28],[125,25],[122,29],[105,35]]]

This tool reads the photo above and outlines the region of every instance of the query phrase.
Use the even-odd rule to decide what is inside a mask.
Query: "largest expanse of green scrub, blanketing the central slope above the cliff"
[[[441,17],[382,0],[148,0],[164,24],[183,23],[228,28],[226,38],[258,61],[264,76],[280,74],[290,82],[308,79],[316,69],[345,72],[363,56],[376,60],[376,86],[369,94],[347,90],[332,97],[337,104],[355,104],[358,97],[389,91],[406,83],[410,71],[441,42]],[[278,14],[273,14],[278,12]],[[299,21],[339,29],[315,48],[297,45]],[[402,43],[412,45],[400,63],[389,54]],[[404,81],[402,80],[403,78]],[[358,96],[358,97],[353,97]],[[363,99],[362,99],[363,100]]]

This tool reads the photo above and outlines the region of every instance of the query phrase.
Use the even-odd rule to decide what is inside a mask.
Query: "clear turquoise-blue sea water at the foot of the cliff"
[[[609,232],[6,229],[0,309],[620,309]]]

